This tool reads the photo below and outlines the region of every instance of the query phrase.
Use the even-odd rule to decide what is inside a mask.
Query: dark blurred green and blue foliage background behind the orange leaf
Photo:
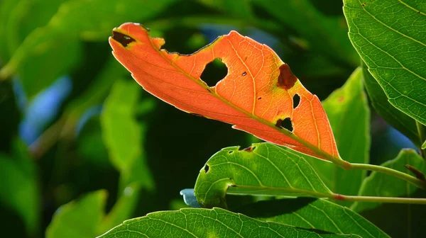
[[[136,184],[129,217],[185,207],[180,190],[194,186],[212,154],[258,141],[143,91],[108,44],[125,22],[185,54],[238,30],[273,48],[321,100],[360,64],[339,0],[1,0],[2,237],[43,237],[60,205],[99,189],[108,212]],[[202,79],[224,75],[212,62]],[[413,147],[371,114],[372,164]]]

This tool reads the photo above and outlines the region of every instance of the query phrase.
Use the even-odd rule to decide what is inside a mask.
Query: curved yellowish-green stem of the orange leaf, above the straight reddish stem
[[[378,166],[374,164],[351,164],[351,170],[371,170],[377,171],[383,174],[388,174],[399,179],[403,179],[408,181],[409,183],[413,183],[415,186],[426,189],[425,181],[421,181],[420,179],[415,178],[414,176],[410,176],[409,174],[405,174],[401,171],[391,169],[385,166]]]

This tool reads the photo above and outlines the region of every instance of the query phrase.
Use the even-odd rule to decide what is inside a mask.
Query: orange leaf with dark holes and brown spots
[[[192,55],[179,55],[160,50],[165,41],[151,38],[141,25],[124,23],[113,33],[109,43],[114,57],[146,91],[163,101],[233,124],[268,142],[342,161],[320,100],[270,47],[231,31]],[[209,87],[200,75],[215,58],[226,64],[228,74]],[[300,103],[293,108],[296,94]],[[283,128],[289,120],[293,132]]]

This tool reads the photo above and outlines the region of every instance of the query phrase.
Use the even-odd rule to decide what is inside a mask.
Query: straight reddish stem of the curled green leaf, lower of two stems
[[[426,198],[391,198],[391,197],[368,197],[368,196],[345,196],[334,194],[334,200],[369,203],[410,203],[426,204]]]

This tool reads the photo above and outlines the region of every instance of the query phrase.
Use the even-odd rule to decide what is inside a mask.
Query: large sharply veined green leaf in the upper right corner
[[[420,2],[344,0],[349,38],[389,102],[426,125],[426,14]]]

